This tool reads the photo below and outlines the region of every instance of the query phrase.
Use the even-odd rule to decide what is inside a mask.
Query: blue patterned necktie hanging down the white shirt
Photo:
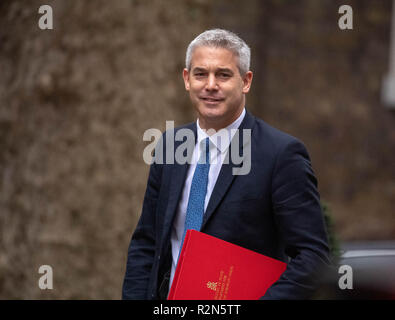
[[[196,169],[193,174],[191,190],[189,191],[187,213],[185,217],[185,228],[182,236],[182,244],[184,237],[189,229],[199,231],[203,222],[204,200],[207,193],[208,172],[210,170],[210,151],[209,138],[201,144],[201,152]]]

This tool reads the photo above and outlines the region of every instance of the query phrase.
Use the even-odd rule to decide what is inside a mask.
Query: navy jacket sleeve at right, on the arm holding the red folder
[[[279,152],[272,176],[274,219],[290,261],[261,299],[307,299],[330,264],[317,180],[297,139]]]

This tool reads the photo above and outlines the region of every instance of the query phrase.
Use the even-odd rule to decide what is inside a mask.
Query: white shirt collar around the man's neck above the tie
[[[235,129],[238,129],[241,122],[243,121],[245,113],[245,108],[243,108],[242,113],[235,121],[233,121],[226,128],[219,130],[211,136],[209,136],[204,129],[200,128],[199,119],[197,119],[197,142],[200,144],[202,140],[209,137],[211,144],[216,146],[221,153],[224,153],[228,149],[230,142],[232,141],[232,138],[236,133]]]

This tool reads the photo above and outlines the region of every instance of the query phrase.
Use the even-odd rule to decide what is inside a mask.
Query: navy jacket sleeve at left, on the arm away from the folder
[[[143,209],[129,244],[122,299],[147,299],[155,255],[155,212],[161,185],[161,166],[150,167]]]

